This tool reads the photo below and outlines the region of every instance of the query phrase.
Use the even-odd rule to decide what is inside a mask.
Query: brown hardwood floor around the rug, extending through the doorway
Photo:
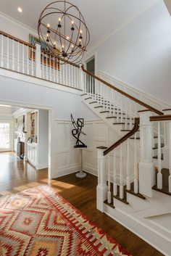
[[[84,179],[68,176],[48,180],[47,169],[35,170],[28,162],[17,160],[12,152],[0,153],[0,194],[17,193],[33,186],[48,184],[78,208],[97,226],[107,232],[133,256],[163,256],[127,228],[96,210],[97,178],[88,174]],[[64,255],[63,255],[64,256]]]

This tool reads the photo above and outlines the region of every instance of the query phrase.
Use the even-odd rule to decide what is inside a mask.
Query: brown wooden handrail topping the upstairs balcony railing
[[[19,42],[20,44],[24,44],[25,46],[28,46],[28,47],[30,47],[30,48],[36,49],[36,46],[33,46],[32,44],[30,44],[30,43],[28,43],[28,42],[26,42],[26,41],[23,41],[23,40],[21,40],[21,39],[19,39],[19,38],[17,38],[17,37],[11,36],[11,35],[9,35],[8,33],[5,33],[4,31],[1,31],[1,30],[0,30],[0,35],[6,36],[6,37],[8,37],[8,38],[10,38],[10,39],[12,39],[12,40],[14,40],[14,41],[16,41],[16,42]],[[48,54],[48,55],[51,55],[51,56],[53,56],[53,57],[56,57],[54,54],[51,54],[51,53],[48,52],[48,51],[41,50],[41,52],[44,52],[44,53],[46,53],[46,54]],[[58,58],[58,57],[57,57],[57,58]],[[72,66],[75,66],[75,67],[80,68],[79,65],[74,64],[74,63],[72,63],[72,62],[70,62],[70,61],[68,61],[68,60],[66,60],[66,59],[62,59],[62,58],[60,58],[60,57],[59,57],[58,59],[62,60],[62,62],[66,62],[67,64],[70,64],[70,65],[72,65]]]

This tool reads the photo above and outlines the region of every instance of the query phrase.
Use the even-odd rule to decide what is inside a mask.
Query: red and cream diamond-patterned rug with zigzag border
[[[49,186],[0,198],[0,255],[131,256]]]

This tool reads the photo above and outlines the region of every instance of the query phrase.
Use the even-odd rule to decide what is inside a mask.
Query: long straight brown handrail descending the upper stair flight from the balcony
[[[144,102],[141,102],[139,99],[136,99],[135,97],[130,96],[129,94],[125,93],[125,91],[122,91],[122,90],[120,90],[119,88],[117,88],[117,87],[115,87],[115,86],[112,86],[112,84],[107,83],[105,80],[99,78],[98,76],[93,75],[93,74],[90,73],[89,71],[85,70],[85,68],[84,68],[83,65],[81,66],[81,68],[82,68],[82,70],[83,70],[85,73],[87,73],[88,75],[91,75],[94,79],[99,80],[99,82],[104,83],[106,86],[108,86],[108,87],[114,89],[114,91],[117,91],[117,92],[119,92],[120,94],[126,96],[127,98],[133,100],[134,102],[137,102],[137,103],[140,104],[141,106],[146,107],[146,108],[147,108],[148,110],[150,110],[151,112],[154,112],[154,113],[156,113],[157,115],[164,115],[163,112],[161,112],[161,111],[155,109],[154,107],[151,107],[149,104],[146,104],[146,103],[144,103]]]

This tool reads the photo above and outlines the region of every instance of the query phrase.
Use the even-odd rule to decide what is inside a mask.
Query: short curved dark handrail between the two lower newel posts
[[[140,118],[135,117],[135,124],[133,126],[133,129],[129,133],[125,134],[125,136],[123,136],[121,139],[119,139],[119,141],[115,142],[112,146],[109,146],[108,149],[104,150],[104,155],[111,152],[117,146],[120,146],[120,144],[122,144],[124,141],[126,141],[128,138],[130,138],[130,136],[133,136],[133,134],[135,134],[138,131],[139,123],[140,123]]]

